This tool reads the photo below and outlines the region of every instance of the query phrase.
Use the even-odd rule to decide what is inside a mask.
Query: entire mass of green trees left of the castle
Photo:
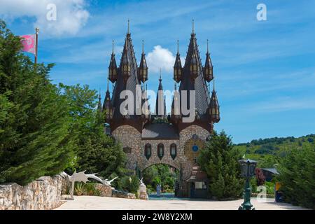
[[[66,168],[123,177],[125,153],[104,134],[96,91],[52,85],[52,64],[35,66],[20,48],[0,21],[0,182],[25,185]]]

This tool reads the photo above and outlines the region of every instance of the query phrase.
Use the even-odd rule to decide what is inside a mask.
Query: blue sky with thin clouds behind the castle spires
[[[45,19],[55,3],[57,20]],[[267,21],[258,21],[258,3]],[[202,61],[207,39],[221,104],[221,122],[235,143],[266,137],[300,137],[315,127],[315,1],[97,1],[1,0],[0,18],[17,35],[39,27],[39,62],[56,63],[54,83],[106,90],[111,40],[120,61],[127,20],[139,62],[144,39],[148,89],[173,90],[179,39],[186,56],[195,19]],[[149,57],[149,59],[148,59]],[[212,84],[211,84],[212,85]],[[168,108],[169,102],[168,102]]]

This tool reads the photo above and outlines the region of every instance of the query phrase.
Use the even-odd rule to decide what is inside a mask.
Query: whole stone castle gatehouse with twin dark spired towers
[[[193,30],[186,55],[186,62],[181,66],[179,49],[174,64],[174,80],[177,84],[175,90],[183,104],[183,92],[190,99],[190,90],[195,93],[195,104],[191,99],[187,102],[187,108],[193,111],[195,119],[186,123],[187,114],[182,109],[176,113],[176,99],[173,99],[172,114],[167,116],[165,99],[163,96],[162,78],[158,86],[158,97],[156,99],[155,113],[142,113],[141,106],[147,104],[146,80],[148,80],[148,67],[144,48],[142,49],[141,61],[137,66],[136,57],[132,45],[132,38],[128,28],[125,45],[120,59],[120,66],[116,65],[115,54],[111,55],[109,65],[109,80],[115,83],[113,94],[107,87],[106,97],[102,107],[99,102],[99,110],[106,111],[106,123],[112,136],[119,141],[127,154],[127,168],[139,173],[157,164],[165,164],[175,167],[180,172],[179,189],[183,197],[198,197],[207,192],[207,178],[197,167],[197,156],[200,149],[213,132],[214,123],[220,120],[218,99],[216,91],[210,94],[209,83],[213,79],[213,66],[209,55],[206,54],[206,62],[202,66],[200,52],[198,50],[195,31]],[[134,97],[133,107],[125,106],[121,112],[121,98],[123,90],[129,90],[130,94],[137,94],[137,87],[141,85],[143,97],[141,99],[140,113],[137,99]],[[128,96],[128,99],[130,96]],[[123,97],[124,98],[124,97]],[[132,98],[131,98],[132,99]],[[176,103],[175,103],[176,102]],[[206,187],[205,187],[206,186]]]

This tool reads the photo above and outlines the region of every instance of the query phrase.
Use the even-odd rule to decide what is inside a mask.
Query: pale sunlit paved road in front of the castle
[[[66,201],[58,210],[236,210],[242,200],[216,202],[206,200],[128,200],[116,197],[75,196],[73,201]],[[291,204],[275,203],[274,200],[258,202],[252,200],[257,210],[300,210]]]

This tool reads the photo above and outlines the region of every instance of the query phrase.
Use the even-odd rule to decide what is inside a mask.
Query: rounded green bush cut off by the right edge
[[[278,167],[281,191],[287,202],[315,209],[315,147],[294,149]]]

